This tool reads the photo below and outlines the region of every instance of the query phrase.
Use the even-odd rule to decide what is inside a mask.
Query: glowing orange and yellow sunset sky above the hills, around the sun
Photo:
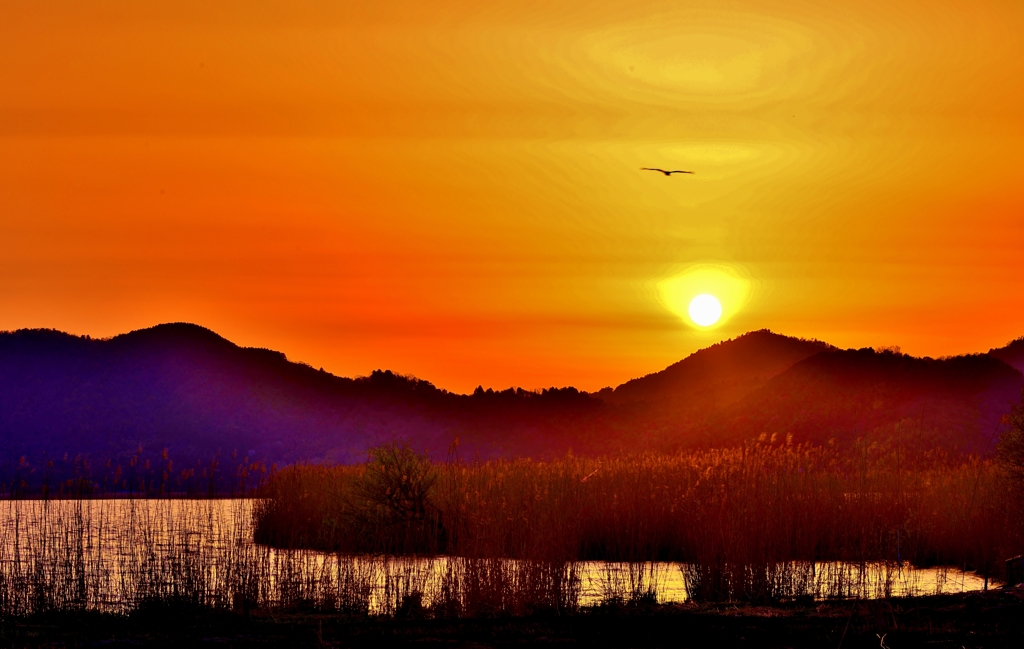
[[[0,0],[0,329],[186,320],[457,391],[760,328],[984,351],[1024,336],[1021,34],[1017,1]],[[710,331],[659,290],[695,265],[748,287]]]

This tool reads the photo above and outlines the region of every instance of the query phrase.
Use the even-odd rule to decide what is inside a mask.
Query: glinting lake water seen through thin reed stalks
[[[0,503],[0,613],[128,612],[153,602],[246,611],[453,614],[685,602],[700,567],[669,562],[537,562],[345,556],[252,542],[250,500]],[[977,591],[955,569],[895,563],[730,566],[780,597],[882,598]]]

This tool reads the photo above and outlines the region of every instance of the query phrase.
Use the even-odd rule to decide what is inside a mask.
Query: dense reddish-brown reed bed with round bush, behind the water
[[[486,463],[434,463],[390,444],[362,466],[287,468],[262,494],[254,534],[274,547],[679,562],[702,600],[884,594],[911,566],[975,570],[987,586],[1021,550],[992,463],[893,442],[841,450],[762,437],[676,455]],[[886,573],[888,591],[885,577],[865,586]],[[630,599],[645,588],[631,587]]]

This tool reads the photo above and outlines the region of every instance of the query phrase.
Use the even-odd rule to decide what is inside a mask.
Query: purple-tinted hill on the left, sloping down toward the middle
[[[0,334],[0,453],[7,459],[125,458],[142,446],[188,462],[218,451],[275,463],[353,462],[382,440],[409,438],[443,453],[460,435],[466,452],[517,455],[565,417],[600,406],[573,389],[465,396],[386,371],[340,378],[195,324],[110,340]]]

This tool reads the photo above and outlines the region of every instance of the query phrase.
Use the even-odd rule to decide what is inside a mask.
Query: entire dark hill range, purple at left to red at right
[[[1019,340],[934,360],[758,331],[597,394],[461,395],[388,371],[336,377],[195,324],[109,340],[22,330],[0,333],[0,468],[65,453],[117,464],[140,446],[185,464],[218,452],[349,463],[395,437],[435,456],[458,437],[463,458],[717,445],[761,433],[844,441],[904,420],[936,444],[978,448],[1020,395],[1024,377],[1011,365],[1022,349]]]

